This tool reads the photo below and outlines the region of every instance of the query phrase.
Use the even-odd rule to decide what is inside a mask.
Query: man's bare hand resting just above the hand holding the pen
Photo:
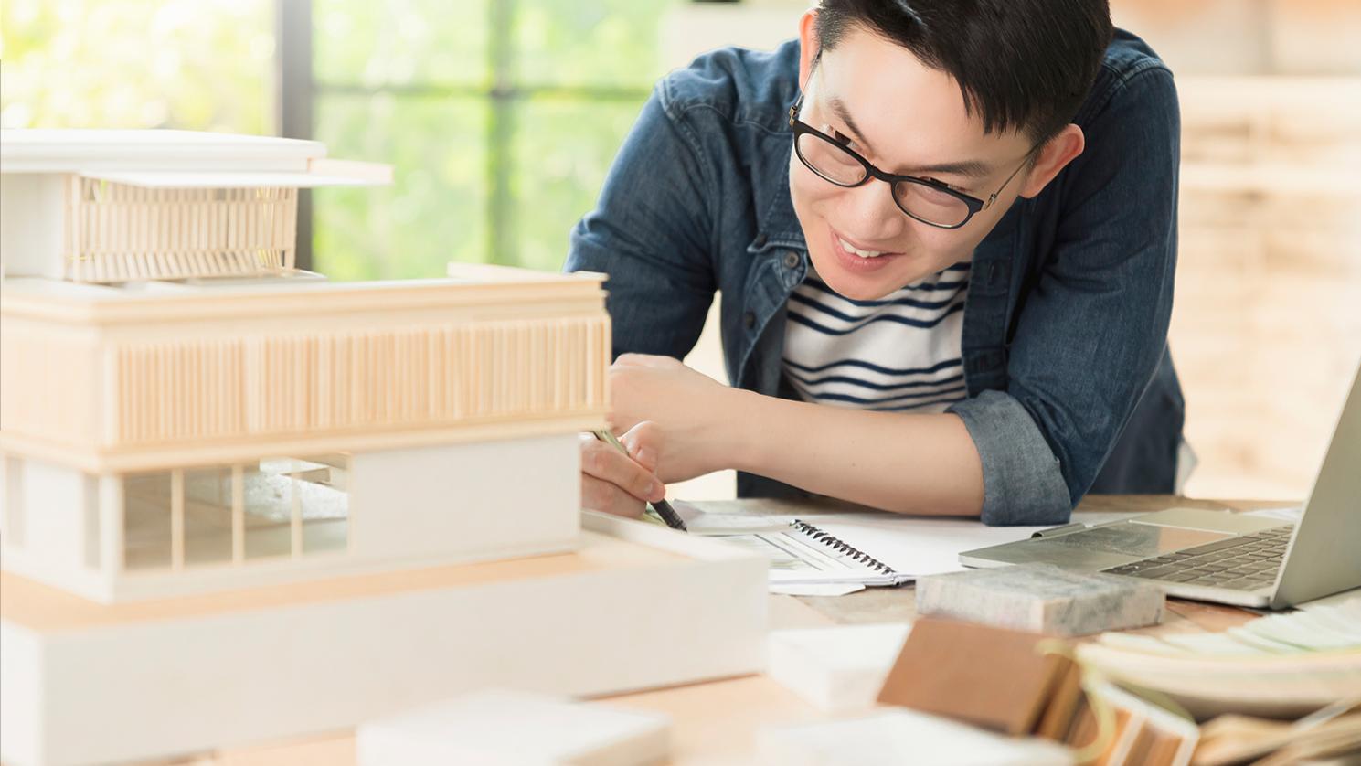
[[[610,427],[632,434],[649,422],[656,429],[652,469],[668,483],[693,479],[731,468],[724,430],[743,393],[671,356],[622,354],[610,367]]]

